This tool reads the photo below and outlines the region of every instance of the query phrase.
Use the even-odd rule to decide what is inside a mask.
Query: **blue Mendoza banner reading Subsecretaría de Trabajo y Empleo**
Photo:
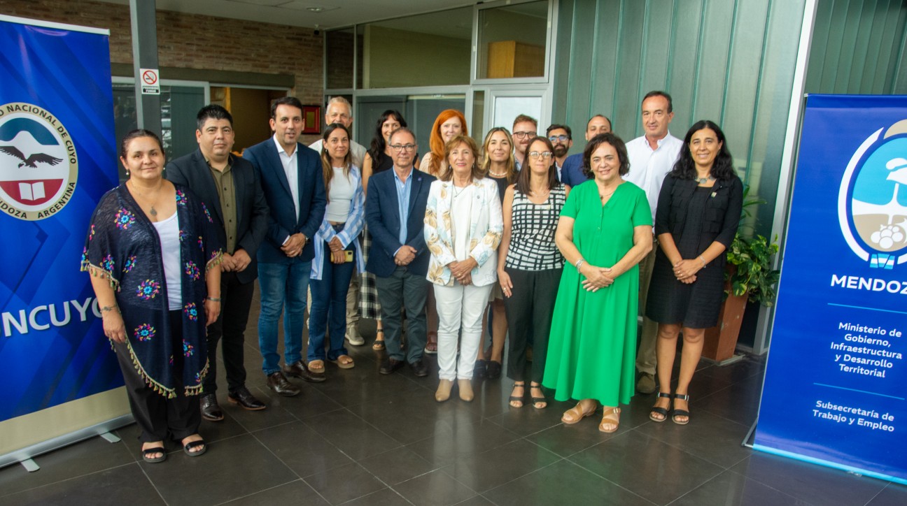
[[[810,95],[756,449],[907,483],[907,97]]]

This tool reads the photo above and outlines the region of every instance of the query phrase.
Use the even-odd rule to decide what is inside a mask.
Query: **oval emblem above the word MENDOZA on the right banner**
[[[907,119],[853,153],[838,191],[838,222],[853,253],[876,269],[907,262]]]

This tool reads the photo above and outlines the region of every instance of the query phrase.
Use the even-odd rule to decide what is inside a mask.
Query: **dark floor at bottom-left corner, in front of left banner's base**
[[[38,473],[41,473],[39,471]],[[6,488],[3,489],[6,492]],[[0,497],[0,504],[165,504],[138,463]]]

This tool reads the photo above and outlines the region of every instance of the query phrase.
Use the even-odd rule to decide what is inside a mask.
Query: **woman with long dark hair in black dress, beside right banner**
[[[658,321],[658,399],[649,418],[689,423],[689,383],[706,329],[718,322],[724,292],[725,250],[734,241],[743,205],[743,184],[713,122],[697,121],[658,194],[655,257],[646,316]],[[683,330],[680,373],[671,392],[671,369]]]

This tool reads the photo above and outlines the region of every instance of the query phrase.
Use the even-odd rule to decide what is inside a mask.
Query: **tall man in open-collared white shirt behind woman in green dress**
[[[671,96],[664,91],[649,91],[642,99],[642,125],[646,134],[627,143],[629,174],[624,179],[639,186],[646,192],[652,209],[652,223],[658,206],[658,193],[674,163],[678,159],[683,141],[668,132],[668,124],[674,118]],[[644,315],[642,332],[639,335],[639,354],[636,368],[639,380],[636,389],[642,394],[656,390],[655,365],[657,361],[655,344],[658,339],[658,323],[645,317],[646,295],[655,265],[658,241],[652,237],[652,252],[639,263],[639,311]]]

